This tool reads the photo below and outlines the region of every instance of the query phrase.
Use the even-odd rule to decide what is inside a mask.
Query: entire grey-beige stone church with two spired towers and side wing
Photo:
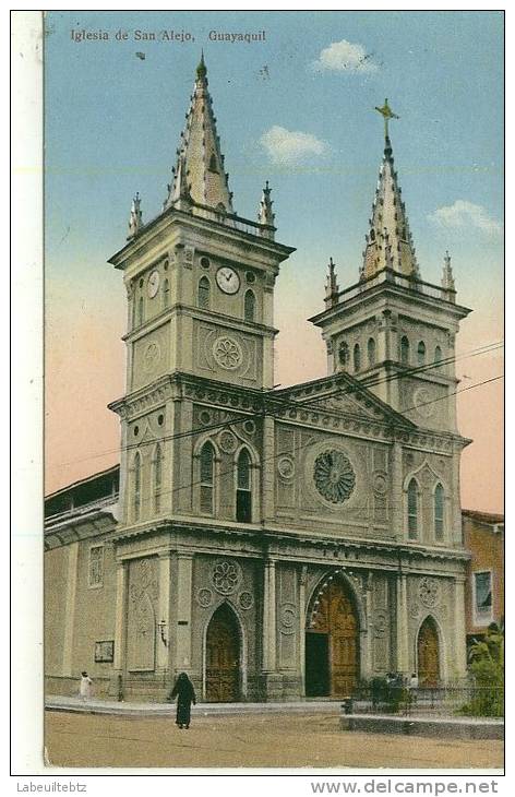
[[[380,109],[385,116],[387,103]],[[330,262],[327,376],[274,389],[266,185],[238,216],[202,60],[163,212],[110,263],[128,297],[120,466],[47,500],[46,676],[163,700],[343,698],[465,676],[451,260],[423,282],[385,131],[355,285]]]

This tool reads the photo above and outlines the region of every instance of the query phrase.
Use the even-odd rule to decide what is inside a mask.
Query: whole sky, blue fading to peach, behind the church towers
[[[125,294],[106,261],[135,191],[144,221],[161,209],[202,48],[235,209],[255,218],[270,180],[276,239],[297,248],[275,292],[283,385],[325,374],[307,319],[323,309],[330,257],[340,288],[357,282],[383,151],[374,107],[388,98],[421,276],[439,283],[448,249],[457,300],[474,309],[456,362],[458,389],[471,388],[459,430],[474,439],[462,502],[502,511],[503,380],[472,386],[502,374],[502,349],[467,356],[503,338],[500,12],[47,13],[46,491],[119,461],[107,403],[124,390]]]

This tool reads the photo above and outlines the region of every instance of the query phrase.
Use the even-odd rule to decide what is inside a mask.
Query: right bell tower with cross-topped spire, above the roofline
[[[388,122],[359,281],[344,290],[330,260],[322,330],[328,373],[346,371],[419,426],[456,432],[455,340],[470,310],[456,304],[451,257],[441,285],[421,278],[394,166]]]

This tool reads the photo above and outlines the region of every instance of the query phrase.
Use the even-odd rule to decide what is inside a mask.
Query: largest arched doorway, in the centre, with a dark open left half
[[[343,698],[359,678],[359,621],[343,579],[328,580],[311,608],[306,633],[306,694]]]

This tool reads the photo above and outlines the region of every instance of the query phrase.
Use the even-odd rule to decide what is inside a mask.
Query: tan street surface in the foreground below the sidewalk
[[[170,706],[171,707],[171,706]],[[502,741],[343,731],[338,712],[194,717],[46,712],[45,742],[57,766],[321,766],[502,769]]]

